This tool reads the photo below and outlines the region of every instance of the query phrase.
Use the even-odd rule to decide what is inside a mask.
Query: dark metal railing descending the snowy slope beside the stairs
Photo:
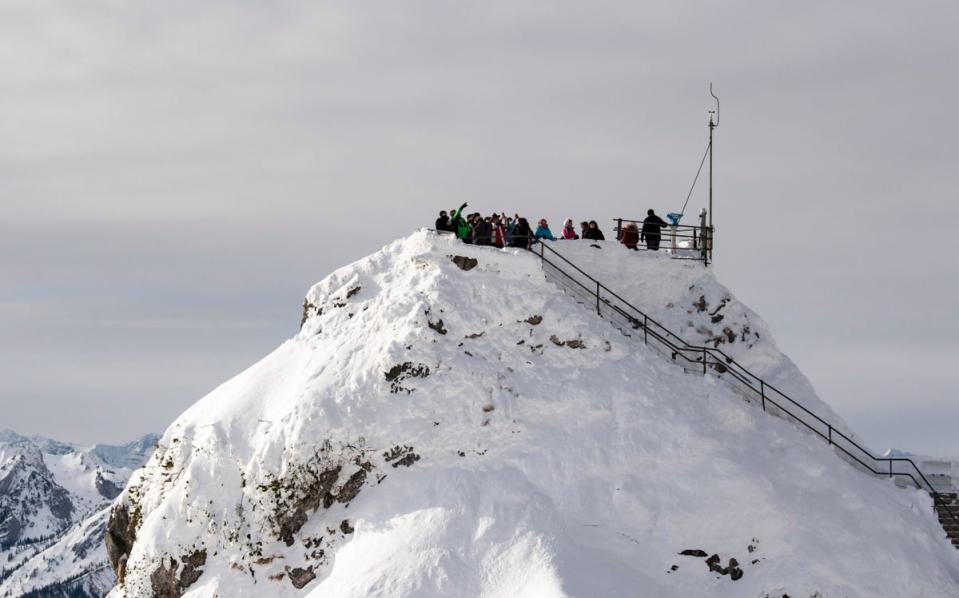
[[[681,365],[685,371],[715,375],[738,390],[748,401],[758,402],[764,412],[797,422],[812,431],[854,465],[878,476],[908,478],[916,488],[926,490],[935,505],[949,506],[912,459],[876,457],[846,433],[753,374],[721,349],[686,342],[584,272],[549,244],[535,243],[530,251],[540,258],[547,272],[554,271],[558,275],[559,284],[584,299],[584,303],[588,301],[590,306],[595,305],[597,315],[609,319],[626,336],[641,334],[645,344]],[[959,515],[952,509],[943,509],[940,513],[949,513],[952,519],[959,522]]]

